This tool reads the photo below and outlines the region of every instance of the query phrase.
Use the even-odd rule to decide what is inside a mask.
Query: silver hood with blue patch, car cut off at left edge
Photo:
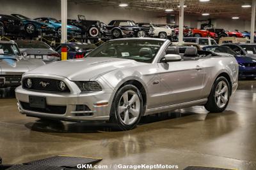
[[[44,62],[36,59],[24,59],[24,57],[14,55],[0,55],[1,74],[20,75],[42,65],[44,65]]]

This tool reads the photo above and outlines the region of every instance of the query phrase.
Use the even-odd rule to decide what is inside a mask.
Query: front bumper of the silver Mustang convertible
[[[29,76],[30,78],[33,76]],[[44,76],[40,76],[40,78]],[[49,78],[49,76],[45,76]],[[52,78],[52,77],[51,77]],[[15,89],[16,98],[18,101],[19,111],[29,117],[38,118],[53,118],[66,121],[86,121],[86,120],[109,120],[109,113],[111,109],[111,89],[103,89],[100,92],[81,93],[76,83],[63,78],[55,76],[54,79],[64,81],[70,89],[69,93],[56,93],[56,92],[40,92],[22,89],[22,86]],[[38,111],[34,108],[26,108],[22,106],[23,103],[29,104],[29,96],[45,97],[48,108],[52,107],[65,107],[65,113],[46,113]],[[108,103],[102,106],[97,104]],[[77,111],[77,105],[87,106],[89,109],[84,111]],[[63,107],[62,107],[63,108]],[[46,108],[47,110],[47,108]]]

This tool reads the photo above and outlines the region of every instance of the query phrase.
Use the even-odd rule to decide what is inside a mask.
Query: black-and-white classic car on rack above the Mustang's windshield
[[[140,27],[136,25],[133,20],[112,20],[106,25],[107,35],[113,36],[113,38],[122,38],[123,36],[136,36],[146,37],[148,36],[149,27]]]

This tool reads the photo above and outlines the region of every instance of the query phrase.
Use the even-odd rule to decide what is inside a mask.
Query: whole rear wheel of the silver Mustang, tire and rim
[[[205,109],[211,113],[223,112],[228,106],[230,94],[230,83],[227,78],[220,76],[214,82]]]

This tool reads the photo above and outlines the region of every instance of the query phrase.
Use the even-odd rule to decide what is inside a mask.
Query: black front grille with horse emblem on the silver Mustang
[[[60,80],[54,80],[49,78],[29,78],[32,81],[32,87],[28,88],[27,80],[28,78],[24,78],[22,80],[22,87],[27,90],[40,90],[40,91],[49,91],[49,92],[70,92],[66,85],[65,90],[60,89]],[[45,85],[45,86],[43,86]]]

